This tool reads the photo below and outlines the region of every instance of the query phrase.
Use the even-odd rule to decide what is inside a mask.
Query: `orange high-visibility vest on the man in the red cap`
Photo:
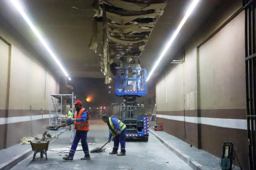
[[[75,119],[81,118],[83,111],[87,111],[87,110],[85,110],[85,108],[81,108],[78,115],[77,115],[77,111],[75,111]],[[89,112],[87,111],[87,118],[86,118],[85,121],[83,121],[83,122],[82,121],[75,121],[74,125],[75,125],[74,129],[77,129],[79,131],[89,131],[89,125],[90,125],[90,123],[89,123]]]

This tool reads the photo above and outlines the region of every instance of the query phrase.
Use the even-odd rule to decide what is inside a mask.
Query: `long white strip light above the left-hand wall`
[[[27,15],[25,14],[25,12],[23,11],[22,7],[20,6],[19,2],[17,2],[17,0],[11,0],[12,3],[14,4],[14,6],[17,8],[17,10],[19,10],[20,14],[22,15],[22,17],[26,20],[26,22],[28,23],[28,25],[30,26],[30,28],[33,30],[33,32],[36,34],[36,36],[38,37],[38,39],[40,39],[41,43],[43,44],[43,46],[45,46],[46,50],[49,52],[49,54],[51,54],[51,57],[53,57],[53,59],[55,60],[56,63],[58,63],[59,67],[61,67],[61,70],[63,71],[63,73],[68,77],[69,75],[67,75],[67,72],[64,70],[64,68],[62,67],[61,63],[59,63],[59,60],[56,58],[56,56],[53,54],[53,52],[51,51],[51,49],[48,47],[48,45],[46,44],[45,40],[41,37],[40,33],[38,33],[38,31],[36,30],[35,26],[32,24],[32,22],[30,21],[30,19],[27,17]],[[70,78],[69,78],[70,80]]]

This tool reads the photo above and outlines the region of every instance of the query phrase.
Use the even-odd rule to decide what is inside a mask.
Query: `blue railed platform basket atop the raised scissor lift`
[[[139,95],[147,94],[146,69],[122,69],[116,70],[116,94]]]

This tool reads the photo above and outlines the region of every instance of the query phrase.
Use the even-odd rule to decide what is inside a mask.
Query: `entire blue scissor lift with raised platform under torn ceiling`
[[[148,141],[148,117],[140,116],[137,97],[147,94],[147,70],[145,69],[117,69],[116,95],[124,97],[121,105],[121,120],[127,127],[127,138],[139,137]]]

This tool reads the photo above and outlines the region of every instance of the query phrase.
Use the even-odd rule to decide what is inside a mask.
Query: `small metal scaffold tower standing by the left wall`
[[[72,92],[72,94],[51,94],[50,92],[49,125],[66,123],[66,119],[62,119],[62,115],[64,114],[66,115],[66,113],[63,113],[63,110],[62,110],[62,107],[64,106],[63,104],[64,99],[71,100],[70,102],[74,103],[75,101],[74,92]],[[72,103],[70,103],[70,106],[72,105]],[[74,110],[74,105],[72,105],[72,118],[74,117],[73,110]],[[61,127],[61,130],[58,132],[73,132],[73,129],[74,129],[73,125],[71,128]],[[56,132],[56,131],[51,131],[51,132]]]

